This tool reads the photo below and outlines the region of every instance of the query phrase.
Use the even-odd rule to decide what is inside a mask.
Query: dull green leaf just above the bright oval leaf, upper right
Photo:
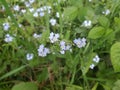
[[[98,21],[101,24],[101,26],[103,26],[105,28],[108,28],[110,25],[109,19],[105,16],[100,16]]]

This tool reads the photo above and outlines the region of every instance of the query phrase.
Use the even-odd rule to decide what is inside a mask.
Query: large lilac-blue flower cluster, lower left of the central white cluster
[[[50,53],[49,48],[45,48],[43,44],[41,44],[38,48],[38,56],[45,57]]]

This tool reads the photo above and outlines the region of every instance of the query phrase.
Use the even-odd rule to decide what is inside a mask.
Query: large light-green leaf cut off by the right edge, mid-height
[[[114,71],[120,72],[120,42],[112,45],[110,55]]]

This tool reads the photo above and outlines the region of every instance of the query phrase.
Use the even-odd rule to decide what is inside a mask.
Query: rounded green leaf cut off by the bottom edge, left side
[[[13,86],[12,90],[38,90],[38,87],[35,83],[26,82]]]

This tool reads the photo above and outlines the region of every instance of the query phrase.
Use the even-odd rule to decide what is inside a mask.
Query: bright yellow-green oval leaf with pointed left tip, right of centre
[[[94,27],[90,32],[88,33],[88,38],[91,39],[98,39],[102,37],[105,33],[105,30],[103,27]]]

